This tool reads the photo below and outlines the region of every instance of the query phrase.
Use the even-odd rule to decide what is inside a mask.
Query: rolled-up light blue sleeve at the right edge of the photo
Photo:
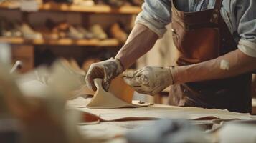
[[[241,39],[238,49],[247,56],[256,57],[256,1],[237,0],[236,5],[237,33]]]

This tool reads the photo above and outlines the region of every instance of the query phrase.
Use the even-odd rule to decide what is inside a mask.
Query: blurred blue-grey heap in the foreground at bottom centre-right
[[[207,134],[184,119],[161,119],[126,134],[129,143],[207,143]]]

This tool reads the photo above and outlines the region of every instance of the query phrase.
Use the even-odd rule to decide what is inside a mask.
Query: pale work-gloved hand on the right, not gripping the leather
[[[171,68],[156,66],[146,66],[132,75],[125,74],[123,79],[136,92],[150,95],[155,95],[173,84]]]

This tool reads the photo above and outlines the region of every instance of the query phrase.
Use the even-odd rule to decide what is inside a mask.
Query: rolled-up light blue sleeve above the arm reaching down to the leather
[[[136,18],[136,24],[147,26],[161,38],[166,32],[166,25],[171,22],[171,2],[145,0],[142,9]]]

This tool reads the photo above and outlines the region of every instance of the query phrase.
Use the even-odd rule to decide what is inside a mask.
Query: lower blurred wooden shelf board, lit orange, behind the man
[[[1,38],[0,43],[8,44],[32,44],[32,45],[52,45],[52,46],[119,46],[117,39],[24,39],[24,38]]]

